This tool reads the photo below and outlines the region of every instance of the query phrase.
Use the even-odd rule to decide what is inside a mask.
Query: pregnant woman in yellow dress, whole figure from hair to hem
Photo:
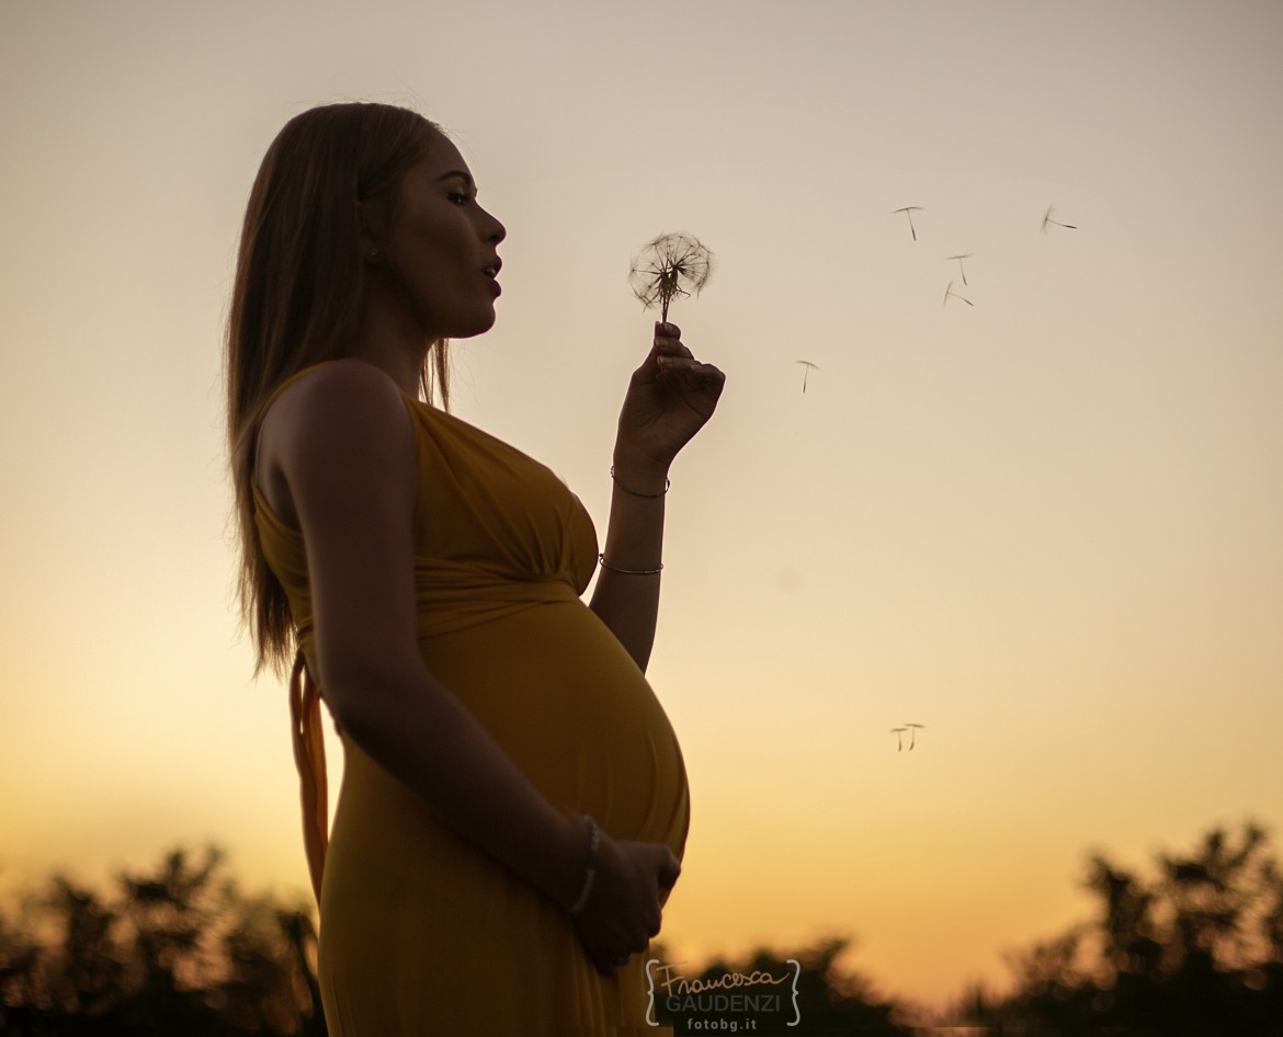
[[[335,1037],[658,1032],[644,951],[690,814],[644,670],[667,470],[725,379],[656,324],[599,546],[548,468],[448,410],[446,340],[493,326],[504,233],[441,129],[378,104],[290,120],[245,217],[240,593],[255,672],[294,660]],[[344,749],[330,832],[321,701]]]

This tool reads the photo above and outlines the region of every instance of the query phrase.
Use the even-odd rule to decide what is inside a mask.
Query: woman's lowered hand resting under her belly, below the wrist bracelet
[[[612,840],[597,849],[597,875],[575,933],[593,965],[612,975],[659,932],[663,902],[681,865],[662,842]]]

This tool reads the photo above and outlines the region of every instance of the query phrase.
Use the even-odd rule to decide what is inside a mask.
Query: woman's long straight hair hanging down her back
[[[290,119],[250,190],[227,320],[227,444],[236,492],[241,620],[254,676],[284,677],[295,651],[285,588],[254,524],[259,411],[291,374],[352,354],[364,292],[357,203],[395,219],[402,177],[441,128],[386,104],[332,104]],[[425,400],[449,408],[448,344],[429,344]],[[434,394],[435,387],[435,394]]]

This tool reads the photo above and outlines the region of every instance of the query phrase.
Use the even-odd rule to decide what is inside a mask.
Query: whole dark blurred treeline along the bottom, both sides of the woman
[[[1094,917],[1014,955],[1008,992],[973,987],[943,1014],[876,995],[839,965],[844,937],[760,947],[684,978],[792,975],[797,960],[801,1024],[744,1028],[761,1034],[1280,1037],[1283,873],[1265,829],[1214,828],[1153,865],[1141,875],[1091,858]],[[105,890],[55,874],[0,905],[0,1034],[318,1037],[316,947],[310,902],[244,893],[216,847],[173,850]],[[689,1015],[661,1005],[658,1016],[692,1032]]]

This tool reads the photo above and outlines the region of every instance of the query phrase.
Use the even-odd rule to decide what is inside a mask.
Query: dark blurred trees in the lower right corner
[[[1265,829],[1209,832],[1160,854],[1144,879],[1091,859],[1092,922],[1025,951],[1003,1000],[971,991],[960,1011],[994,1034],[1283,1034],[1283,877]]]

